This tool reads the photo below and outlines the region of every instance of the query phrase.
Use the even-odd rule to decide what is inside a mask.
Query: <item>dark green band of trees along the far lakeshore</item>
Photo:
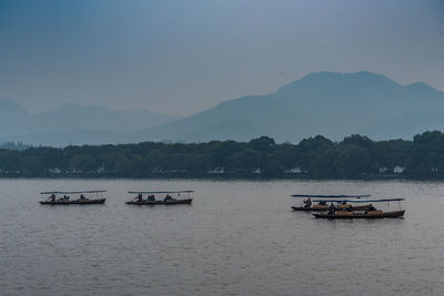
[[[444,177],[444,134],[413,141],[316,135],[299,144],[262,136],[250,142],[154,143],[0,150],[6,177]]]

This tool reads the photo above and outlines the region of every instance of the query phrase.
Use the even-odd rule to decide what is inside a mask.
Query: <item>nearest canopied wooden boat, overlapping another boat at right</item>
[[[316,218],[327,218],[327,220],[337,220],[337,218],[398,218],[403,217],[405,210],[401,210],[401,201],[405,201],[405,198],[377,198],[377,200],[342,200],[341,202],[346,203],[369,203],[372,207],[371,210],[366,211],[356,211],[356,210],[339,210],[333,206],[333,203],[339,202],[339,200],[327,200],[326,203],[331,203],[327,213],[319,213],[313,214]],[[317,202],[317,201],[314,201]],[[390,202],[397,202],[400,204],[400,211],[391,211],[391,212],[383,212],[376,210],[373,206],[373,203],[390,203]]]

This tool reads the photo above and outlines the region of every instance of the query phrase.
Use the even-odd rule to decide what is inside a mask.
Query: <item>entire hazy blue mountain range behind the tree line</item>
[[[22,113],[17,105],[3,101],[0,103],[1,114],[4,113],[4,105],[18,114]],[[112,119],[95,121],[93,112],[88,116],[81,115],[84,112],[68,112],[71,116],[58,116],[63,109],[82,108],[69,105],[52,113],[34,115],[32,118],[40,120],[39,124],[32,124],[32,129],[24,120],[12,121],[7,118],[7,122],[14,122],[17,129],[21,129],[21,135],[16,133],[10,139],[24,143],[65,145],[229,139],[249,141],[269,135],[278,142],[299,142],[316,134],[341,140],[360,133],[374,140],[384,140],[411,139],[426,130],[444,130],[444,92],[422,82],[402,85],[385,75],[371,72],[313,73],[270,94],[242,96],[188,118],[163,118],[165,122],[157,121],[157,124],[149,122],[154,115],[137,112],[121,114],[127,119],[122,120],[125,124]],[[109,109],[104,110],[110,112]],[[132,121],[134,118],[138,120]],[[72,124],[75,121],[83,123]],[[58,129],[50,130],[54,124]],[[4,134],[3,130],[0,134]]]

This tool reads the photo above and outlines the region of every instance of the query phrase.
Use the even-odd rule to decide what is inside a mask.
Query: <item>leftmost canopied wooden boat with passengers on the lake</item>
[[[41,201],[40,204],[49,205],[69,205],[69,204],[104,204],[107,198],[103,198],[103,193],[107,191],[47,191],[40,194],[50,194],[46,201]],[[57,195],[63,194],[62,197],[57,198]],[[71,200],[69,194],[80,194],[79,198]],[[85,194],[95,194],[97,198],[89,198]],[[100,195],[100,197],[99,197]]]

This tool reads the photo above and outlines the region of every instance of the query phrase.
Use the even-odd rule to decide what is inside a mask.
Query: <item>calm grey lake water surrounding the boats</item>
[[[39,192],[103,188],[43,206]],[[195,190],[131,206],[128,190]],[[323,221],[295,193],[405,197],[404,220]],[[0,180],[1,295],[395,295],[444,290],[444,183]]]

